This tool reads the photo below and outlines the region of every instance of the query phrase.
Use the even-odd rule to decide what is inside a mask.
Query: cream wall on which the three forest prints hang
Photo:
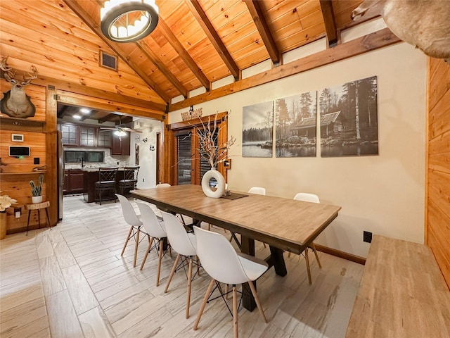
[[[203,114],[231,111],[230,189],[266,187],[273,196],[319,194],[326,204],[342,206],[316,243],[366,256],[363,231],[423,243],[425,208],[426,58],[407,44],[371,51],[345,61],[238,92],[194,108]],[[242,108],[311,90],[378,78],[378,156],[321,158],[243,158]],[[182,110],[182,111],[185,111]],[[181,111],[169,113],[179,122]],[[318,139],[320,144],[320,139]]]

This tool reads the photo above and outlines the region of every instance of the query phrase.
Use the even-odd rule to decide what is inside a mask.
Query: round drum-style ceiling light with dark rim
[[[100,10],[101,31],[114,42],[134,42],[158,25],[155,0],[110,0]]]

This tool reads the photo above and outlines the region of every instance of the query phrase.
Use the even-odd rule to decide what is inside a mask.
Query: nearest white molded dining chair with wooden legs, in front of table
[[[212,295],[212,288],[216,284],[221,292],[219,283],[231,284],[233,294],[233,332],[234,337],[238,338],[238,292],[237,284],[247,283],[255,297],[255,302],[259,313],[261,313],[264,323],[267,323],[266,315],[262,309],[258,294],[253,281],[257,280],[266,272],[268,265],[265,261],[253,256],[236,253],[233,246],[221,234],[211,232],[200,227],[194,227],[195,239],[197,243],[197,255],[200,258],[203,269],[211,277],[210,285],[207,288],[202,305],[198,311],[195,320],[194,330],[198,329],[200,318],[205,310],[206,303]],[[215,291],[215,290],[214,290]],[[222,294],[223,296],[223,294]],[[225,299],[224,299],[225,300]]]

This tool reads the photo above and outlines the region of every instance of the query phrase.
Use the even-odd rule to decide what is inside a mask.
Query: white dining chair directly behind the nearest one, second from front
[[[195,235],[192,232],[186,232],[179,219],[176,218],[175,215],[172,215],[172,213],[161,211],[161,214],[166,227],[167,239],[169,239],[172,249],[174,249],[177,253],[174,266],[172,267],[172,271],[170,272],[169,280],[167,280],[167,285],[164,292],[166,293],[169,290],[170,282],[172,282],[175,271],[184,269],[186,265],[188,265],[188,285],[186,299],[187,319],[189,318],[189,306],[191,303],[191,284],[193,280],[192,268],[194,264],[193,261],[195,260],[195,264],[197,265],[197,273],[199,272],[198,268],[200,266],[197,259],[197,250],[195,249]],[[181,263],[179,266],[177,266],[180,258]]]

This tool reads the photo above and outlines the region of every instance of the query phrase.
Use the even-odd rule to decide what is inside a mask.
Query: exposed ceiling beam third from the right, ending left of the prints
[[[234,79],[236,81],[239,80],[238,65],[236,65],[236,62],[234,62],[233,58],[231,57],[231,54],[226,49],[224,42],[222,42],[216,30],[212,26],[212,23],[210,19],[206,16],[205,11],[203,11],[202,6],[200,6],[197,0],[185,0],[185,2],[188,8],[193,13],[195,19],[198,21],[200,26],[205,31],[208,39],[210,39],[212,46],[214,46],[217,53],[221,57],[222,61],[224,61],[226,67],[233,75]]]

